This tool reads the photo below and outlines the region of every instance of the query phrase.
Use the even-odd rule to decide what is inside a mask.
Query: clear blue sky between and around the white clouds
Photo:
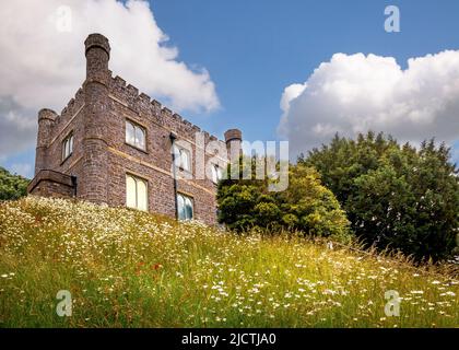
[[[384,31],[389,4],[400,9],[400,33]],[[215,84],[219,109],[181,114],[219,137],[237,127],[248,140],[284,139],[278,132],[284,89],[306,82],[337,52],[390,56],[405,69],[411,57],[459,49],[459,1],[454,0],[155,0],[150,5],[169,37],[167,46],[178,48],[178,60],[205,68]],[[436,135],[435,128],[427,130],[432,133],[419,137]],[[16,171],[33,160],[27,149],[2,165]]]

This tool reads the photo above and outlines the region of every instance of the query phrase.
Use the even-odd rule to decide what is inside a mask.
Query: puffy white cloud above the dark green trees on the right
[[[329,141],[336,132],[385,131],[414,144],[459,139],[459,51],[408,60],[336,54],[303,84],[284,90],[278,131],[291,154]]]

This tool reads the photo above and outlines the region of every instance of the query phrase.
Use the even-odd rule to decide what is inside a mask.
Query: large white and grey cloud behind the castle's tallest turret
[[[140,91],[178,112],[219,107],[208,71],[178,59],[146,1],[11,1],[0,7],[0,158],[33,145],[39,108],[60,112],[74,95],[90,33],[109,38],[110,69]]]

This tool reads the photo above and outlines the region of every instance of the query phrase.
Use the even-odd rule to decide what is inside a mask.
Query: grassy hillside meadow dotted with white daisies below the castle
[[[455,327],[458,279],[295,237],[123,208],[0,203],[0,327]],[[56,294],[72,295],[59,317]],[[385,292],[402,298],[386,316]]]

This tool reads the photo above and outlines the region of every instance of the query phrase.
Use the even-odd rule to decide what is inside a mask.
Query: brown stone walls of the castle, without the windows
[[[191,178],[178,179],[177,190],[192,197],[195,219],[215,224],[216,186],[210,178],[195,179],[197,152],[204,154],[205,164],[214,156],[195,142],[196,133],[201,129],[146,94],[139,93],[123,79],[113,78],[108,70],[109,45],[105,37],[93,34],[85,44],[87,65],[83,88],[59,116],[51,113],[51,118],[44,119],[46,122],[39,125],[37,177],[44,170],[66,174],[69,178],[75,176],[78,198],[125,206],[126,175],[136,175],[148,182],[149,210],[175,217],[170,152],[170,133],[174,133],[177,141],[185,140],[192,150]],[[127,119],[146,130],[144,151],[126,143]],[[73,153],[62,160],[62,141],[70,133],[74,138]],[[240,135],[240,131],[231,132],[232,137],[235,135]],[[203,139],[204,144],[215,141],[220,154],[223,154],[217,163],[225,166],[226,143],[205,131]],[[50,195],[54,189],[59,195],[71,192],[43,179],[39,183],[42,185],[31,187],[31,192],[44,196]]]

